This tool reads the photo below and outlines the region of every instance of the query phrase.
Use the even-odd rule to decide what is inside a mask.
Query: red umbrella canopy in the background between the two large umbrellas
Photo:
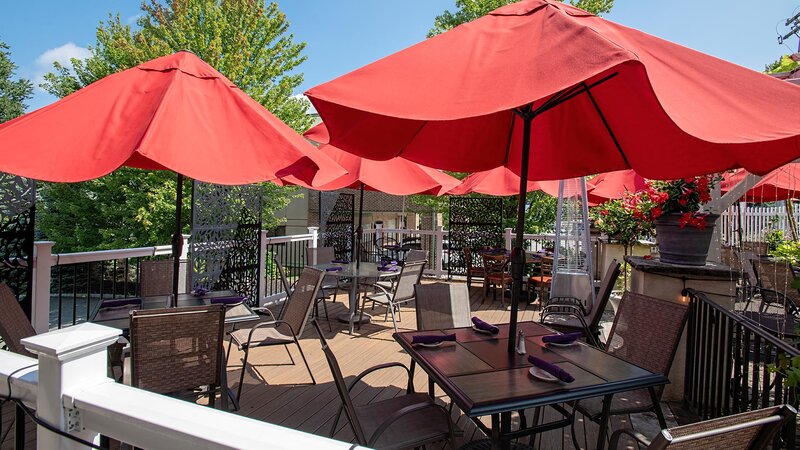
[[[305,133],[309,139],[327,140],[325,124],[321,123]],[[347,174],[330,183],[313,187],[320,191],[364,188],[392,195],[428,194],[442,195],[456,187],[460,181],[441,170],[432,169],[405,158],[391,158],[375,161],[362,158],[340,150],[332,145],[322,145],[319,153],[330,157],[341,165]],[[283,181],[304,187],[311,187],[297,177],[284,177]]]

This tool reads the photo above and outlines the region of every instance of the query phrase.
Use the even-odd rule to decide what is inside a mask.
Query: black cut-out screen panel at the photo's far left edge
[[[0,173],[0,283],[6,283],[31,315],[33,219],[36,183]]]

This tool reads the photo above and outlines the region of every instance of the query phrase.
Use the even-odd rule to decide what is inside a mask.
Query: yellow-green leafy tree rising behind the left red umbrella
[[[276,3],[256,0],[146,0],[132,28],[109,15],[96,32],[86,60],[72,68],[54,64],[42,87],[64,97],[88,84],[159,56],[190,50],[298,132],[312,124],[308,103],[293,98],[303,82],[297,72],[305,43],[288,32]],[[44,184],[38,225],[58,251],[163,244],[175,216],[175,174],[120,169],[85,183]],[[265,227],[298,190],[264,185]],[[184,188],[183,217],[191,189]],[[184,228],[188,231],[187,228]]]

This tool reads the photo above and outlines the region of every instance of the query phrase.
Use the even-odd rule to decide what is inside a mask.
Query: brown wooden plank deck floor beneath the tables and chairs
[[[481,289],[473,287],[471,292],[471,305],[473,314],[490,323],[506,323],[510,312],[506,302],[501,306],[500,298],[492,301],[491,294],[484,301]],[[345,311],[345,296],[341,294],[334,304],[328,303],[328,312],[331,317]],[[336,354],[346,379],[354,378],[361,371],[377,364],[399,361],[406,365],[410,358],[401,350],[392,338],[394,329],[391,321],[383,321],[383,308],[376,308],[376,317],[372,323],[363,325],[352,336],[347,334],[345,324],[331,320],[332,332],[328,329],[328,322],[321,318],[320,324],[325,332],[328,343]],[[538,320],[538,304],[523,304],[520,308],[519,320]],[[404,307],[401,312],[401,330],[416,329],[413,304]],[[245,374],[244,387],[241,399],[242,414],[257,420],[263,420],[290,428],[299,429],[309,433],[329,436],[341,404],[339,395],[332,382],[332,377],[324,354],[319,346],[316,332],[310,325],[302,334],[300,345],[308,358],[311,371],[317,379],[316,385],[311,385],[308,373],[302,365],[300,354],[296,348],[290,352],[296,365],[290,364],[290,357],[282,347],[254,349],[250,354],[250,362],[255,364],[254,369],[249,369]],[[238,387],[241,373],[242,354],[235,349],[231,352],[228,361],[229,385]],[[364,379],[353,392],[356,404],[366,404],[381,399],[391,398],[405,392],[406,375],[402,369],[390,369],[377,372]],[[422,371],[417,371],[414,378],[417,392],[427,392],[427,376]],[[447,397],[437,391],[439,401],[447,403]],[[555,411],[547,409],[544,419],[555,417]],[[533,417],[533,412],[526,412],[528,420]],[[516,420],[515,415],[515,420]],[[620,427],[630,428],[630,421],[636,422],[637,428],[645,436],[652,437],[658,432],[658,425],[653,424],[648,417],[618,417],[612,421],[612,429]],[[458,408],[453,409],[453,420],[464,431],[463,437],[458,438],[457,447],[486,436],[474,423],[462,415]],[[488,418],[486,418],[488,420]],[[488,424],[488,422],[487,422]],[[641,428],[648,428],[642,430]],[[597,439],[597,426],[584,424],[582,417],[578,417],[576,429],[579,444],[582,448],[595,448]],[[338,440],[352,441],[352,431],[344,421],[340,421],[333,437]],[[524,443],[528,443],[527,439]],[[537,436],[534,448],[538,449],[573,449],[569,429],[554,430]],[[631,447],[635,448],[635,447]]]

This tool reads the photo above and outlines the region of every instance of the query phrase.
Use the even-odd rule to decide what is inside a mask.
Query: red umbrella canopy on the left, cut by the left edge
[[[327,183],[344,169],[190,52],[109,75],[0,126],[0,171],[46,181],[120,166],[246,184],[294,175]]]

